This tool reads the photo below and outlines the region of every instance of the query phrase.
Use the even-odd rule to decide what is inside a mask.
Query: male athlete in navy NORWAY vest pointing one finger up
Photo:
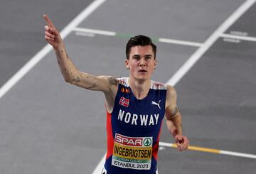
[[[55,50],[66,82],[105,94],[107,110],[107,156],[102,173],[157,173],[157,152],[162,119],[179,151],[188,148],[182,134],[176,90],[151,80],[156,68],[156,45],[146,36],[134,36],[126,48],[129,77],[94,76],[81,72],[68,56],[59,32],[46,20],[46,40]]]

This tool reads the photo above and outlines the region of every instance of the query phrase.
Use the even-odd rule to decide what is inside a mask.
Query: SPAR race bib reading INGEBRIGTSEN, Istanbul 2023
[[[112,165],[119,168],[150,170],[152,137],[129,137],[115,134]]]

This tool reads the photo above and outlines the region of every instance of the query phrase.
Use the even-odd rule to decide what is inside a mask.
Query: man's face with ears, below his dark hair
[[[125,65],[129,69],[130,77],[135,80],[149,80],[156,68],[156,59],[151,45],[132,47],[129,60],[125,60]]]

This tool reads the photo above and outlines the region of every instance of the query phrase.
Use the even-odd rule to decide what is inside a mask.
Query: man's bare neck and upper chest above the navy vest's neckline
[[[129,78],[129,85],[137,99],[144,99],[149,92],[151,80],[135,80],[134,78]]]

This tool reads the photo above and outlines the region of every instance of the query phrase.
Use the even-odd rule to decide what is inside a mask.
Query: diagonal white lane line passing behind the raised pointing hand
[[[82,11],[76,18],[71,21],[68,26],[66,26],[63,31],[60,32],[60,35],[64,39],[68,34],[70,34],[73,31],[73,28],[78,26],[87,16],[89,16],[95,9],[97,9],[101,4],[103,4],[106,0],[95,0],[87,6],[87,8]],[[43,20],[43,18],[42,18]],[[52,47],[50,45],[46,45],[42,50],[40,50],[31,60],[29,60],[26,65],[23,65],[16,74],[11,77],[1,88],[0,88],[0,99],[1,97],[8,92],[11,87],[14,87],[16,83],[21,80],[21,78],[26,75],[40,60],[42,60],[49,52],[52,50]]]

